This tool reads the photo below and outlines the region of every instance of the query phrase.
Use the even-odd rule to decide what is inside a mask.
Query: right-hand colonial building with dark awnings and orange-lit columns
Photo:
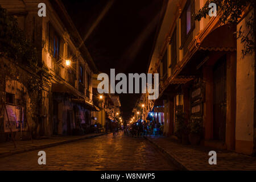
[[[162,107],[157,110],[164,133],[172,136],[177,136],[177,111],[186,123],[201,118],[201,144],[255,154],[255,52],[243,55],[236,34],[241,26],[248,31],[253,9],[243,7],[235,25],[220,23],[220,13],[196,21],[193,14],[205,3],[173,0],[163,7],[148,67],[148,73],[160,73],[160,96],[152,106],[144,94],[150,107],[144,113]]]

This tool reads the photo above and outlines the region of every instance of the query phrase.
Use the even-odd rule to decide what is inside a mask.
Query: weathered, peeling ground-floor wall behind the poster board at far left
[[[25,118],[27,119],[28,126],[32,130],[33,137],[39,133],[38,122],[38,90],[32,91],[35,86],[32,83],[35,81],[35,75],[27,72],[27,67],[19,67],[11,60],[3,57],[0,58],[0,98],[1,103],[6,101],[6,92],[15,94],[14,104],[21,105],[26,109]],[[3,113],[1,113],[1,126],[3,125]],[[27,127],[27,126],[26,126]],[[28,129],[28,127],[27,127]],[[3,127],[0,131],[0,141],[5,141],[7,134],[3,133]],[[23,138],[30,137],[30,133],[23,132]],[[28,136],[29,135],[29,136]],[[15,134],[15,139],[20,139],[20,133]]]

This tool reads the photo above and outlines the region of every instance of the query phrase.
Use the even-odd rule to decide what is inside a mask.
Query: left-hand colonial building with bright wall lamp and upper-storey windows
[[[45,17],[38,15],[39,3],[46,4]],[[92,75],[97,68],[63,4],[11,0],[0,5],[17,18],[38,57],[33,65],[1,57],[1,73],[10,69],[1,76],[1,104],[6,103],[9,110],[1,114],[1,140],[10,132],[7,117],[17,126],[13,128],[16,139],[31,133],[33,137],[85,133],[92,124],[91,112],[98,110],[92,102]],[[37,85],[35,90],[32,84]],[[11,118],[11,106],[21,108],[21,119],[15,119],[16,110]],[[23,131],[18,129],[19,122]]]

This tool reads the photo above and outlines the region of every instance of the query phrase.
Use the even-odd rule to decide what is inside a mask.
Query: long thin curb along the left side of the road
[[[86,136],[86,137],[81,137],[81,138],[76,138],[76,139],[64,140],[64,141],[61,141],[61,142],[44,144],[42,146],[34,146],[34,147],[26,148],[26,149],[21,149],[21,150],[18,150],[18,151],[5,152],[5,153],[0,154],[0,158],[4,158],[6,156],[10,156],[10,155],[14,155],[14,154],[20,154],[20,153],[23,153],[23,152],[38,150],[38,149],[42,149],[42,148],[49,148],[49,147],[59,146],[61,144],[77,142],[79,140],[84,140],[84,139],[87,139],[87,138],[100,137],[100,136],[106,135],[106,134],[107,133],[102,133],[102,134],[98,134],[98,135],[92,135],[92,136]]]

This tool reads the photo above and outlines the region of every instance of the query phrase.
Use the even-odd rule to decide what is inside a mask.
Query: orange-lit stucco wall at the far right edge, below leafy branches
[[[248,14],[237,26],[242,26],[246,35]],[[242,55],[243,45],[237,40],[237,104],[236,104],[236,151],[251,154],[254,136],[254,93],[255,93],[255,53]]]

